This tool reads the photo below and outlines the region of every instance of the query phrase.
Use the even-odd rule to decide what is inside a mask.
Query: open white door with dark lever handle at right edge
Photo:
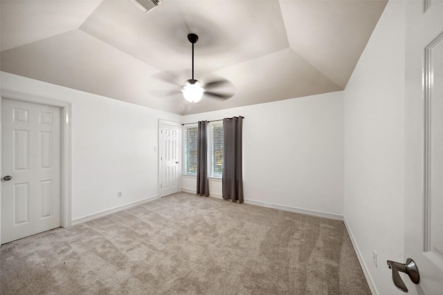
[[[401,278],[412,294],[442,294],[443,1],[408,1],[407,24],[404,242],[420,280]]]

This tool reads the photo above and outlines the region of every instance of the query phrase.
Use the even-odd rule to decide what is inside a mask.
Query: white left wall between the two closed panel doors
[[[71,102],[73,220],[158,196],[159,119],[181,116],[3,72],[1,87]]]

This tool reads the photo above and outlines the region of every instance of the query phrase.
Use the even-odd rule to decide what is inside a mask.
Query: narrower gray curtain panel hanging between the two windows
[[[206,121],[197,126],[197,195],[209,197],[207,126]]]

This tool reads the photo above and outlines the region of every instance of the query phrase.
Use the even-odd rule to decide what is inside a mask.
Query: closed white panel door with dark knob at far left
[[[2,243],[60,227],[60,113],[3,99]]]

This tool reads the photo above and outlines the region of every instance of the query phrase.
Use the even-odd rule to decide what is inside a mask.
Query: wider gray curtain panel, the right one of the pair
[[[243,202],[242,167],[242,125],[243,117],[223,119],[223,178],[224,200]]]

